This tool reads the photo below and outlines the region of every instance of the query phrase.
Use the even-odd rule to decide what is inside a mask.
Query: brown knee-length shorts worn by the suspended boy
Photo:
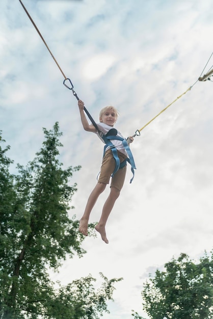
[[[122,163],[126,159],[126,155],[118,151],[118,157],[120,159],[120,163]],[[102,165],[100,168],[100,175],[98,178],[99,183],[109,184],[110,177],[115,169],[115,158],[113,157],[112,150],[109,149],[107,152],[105,152],[105,155],[103,156]],[[121,191],[123,187],[123,183],[126,176],[126,166],[119,169],[115,175],[112,177],[111,185],[110,187],[115,187],[119,191]]]

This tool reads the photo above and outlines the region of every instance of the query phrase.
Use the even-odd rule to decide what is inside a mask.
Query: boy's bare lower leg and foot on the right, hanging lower
[[[102,240],[108,244],[107,235],[105,232],[105,224],[107,223],[108,217],[113,209],[116,199],[119,197],[120,191],[115,187],[111,187],[110,195],[105,201],[102,209],[102,214],[98,224],[95,226],[95,229],[100,233]]]

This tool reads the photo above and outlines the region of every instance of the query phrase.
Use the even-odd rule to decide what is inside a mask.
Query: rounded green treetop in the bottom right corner
[[[213,315],[213,254],[199,262],[181,254],[144,285],[144,310],[152,319],[210,319]]]

